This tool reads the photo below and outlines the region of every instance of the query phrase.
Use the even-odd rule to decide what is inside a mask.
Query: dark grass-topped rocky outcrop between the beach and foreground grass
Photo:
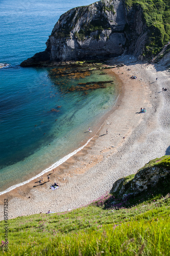
[[[170,157],[164,156],[155,159],[138,170],[136,175],[117,180],[111,189],[111,193],[122,196],[137,195],[143,191],[151,192],[170,184]]]

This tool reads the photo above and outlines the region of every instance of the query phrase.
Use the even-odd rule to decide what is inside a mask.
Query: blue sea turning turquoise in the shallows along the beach
[[[52,68],[19,64],[45,50],[60,15],[90,0],[0,0],[0,191],[52,169],[99,129],[116,100],[112,83],[104,89],[65,93],[78,82],[111,80],[100,71],[81,79],[49,76]],[[53,111],[53,110],[57,111]],[[92,133],[86,133],[88,127]],[[66,157],[67,156],[67,157]]]

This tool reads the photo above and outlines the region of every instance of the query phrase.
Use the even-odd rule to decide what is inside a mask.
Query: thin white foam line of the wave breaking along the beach
[[[93,137],[92,137],[93,138]],[[55,162],[54,164],[52,164],[50,167],[44,169],[40,174],[34,176],[33,178],[27,180],[27,181],[24,181],[22,183],[18,183],[16,185],[13,185],[9,188],[7,188],[6,190],[0,192],[0,196],[5,194],[5,193],[8,193],[9,191],[15,189],[16,187],[20,187],[22,185],[25,185],[27,183],[29,183],[30,181],[34,180],[34,179],[37,179],[39,178],[41,175],[47,173],[47,172],[50,172],[51,170],[53,170],[54,168],[56,168],[57,166],[61,165],[62,163],[64,163],[65,161],[67,161],[70,157],[74,156],[75,154],[77,154],[79,151],[81,151],[89,142],[90,140],[92,139],[90,138],[83,146],[79,147],[77,150],[75,150],[74,152],[71,152],[70,154],[68,154],[67,156],[61,158],[60,160],[58,160],[57,162]]]

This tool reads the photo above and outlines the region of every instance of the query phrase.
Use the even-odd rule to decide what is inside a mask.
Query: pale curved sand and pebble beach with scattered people
[[[93,138],[83,150],[54,173],[43,175],[41,185],[36,179],[0,196],[1,220],[4,199],[8,199],[9,219],[71,210],[106,194],[117,179],[136,173],[150,160],[170,155],[170,73],[164,66],[135,61],[132,56],[108,61],[115,63],[124,66],[108,72],[116,75],[122,88],[101,129],[91,133]],[[141,108],[147,112],[141,113]],[[53,191],[50,185],[55,181],[60,187]]]

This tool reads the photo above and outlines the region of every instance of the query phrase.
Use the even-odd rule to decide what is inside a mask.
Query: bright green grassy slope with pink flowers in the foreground
[[[169,157],[161,158],[160,162],[167,165],[167,159]],[[97,202],[70,212],[9,220],[9,249],[3,254],[168,255],[168,191],[169,186],[162,187],[159,194],[150,191],[150,194],[126,200],[115,199],[116,194],[105,195]],[[3,224],[4,221],[0,223],[2,240]],[[3,252],[3,248],[1,250]]]

